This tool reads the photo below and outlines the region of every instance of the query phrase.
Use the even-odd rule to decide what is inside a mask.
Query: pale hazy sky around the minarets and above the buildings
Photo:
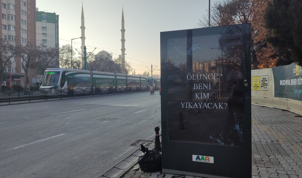
[[[125,60],[136,74],[156,67],[160,74],[160,32],[196,28],[207,14],[208,0],[36,0],[39,11],[59,15],[59,45],[81,37],[82,2],[87,52],[121,54],[121,18],[124,9]],[[213,4],[215,0],[211,0]],[[81,49],[81,39],[72,40]],[[149,69],[147,68],[149,67]]]

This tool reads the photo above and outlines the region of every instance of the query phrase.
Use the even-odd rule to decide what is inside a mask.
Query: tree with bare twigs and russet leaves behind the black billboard
[[[271,59],[265,53],[268,47],[265,35],[268,30],[264,28],[264,10],[270,0],[222,0],[214,2],[211,6],[210,26],[223,26],[233,24],[252,23],[252,66],[258,68],[258,58],[261,64]],[[208,9],[207,9],[208,11]],[[198,27],[208,26],[208,16],[204,15],[198,23]],[[272,49],[271,49],[272,50]],[[265,58],[265,60],[264,60]]]

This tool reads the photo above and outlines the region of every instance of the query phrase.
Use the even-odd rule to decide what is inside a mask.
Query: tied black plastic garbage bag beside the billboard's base
[[[153,173],[162,170],[162,154],[158,151],[148,150],[148,148],[140,145],[141,150],[145,153],[140,157],[138,164],[140,169],[147,173]]]

